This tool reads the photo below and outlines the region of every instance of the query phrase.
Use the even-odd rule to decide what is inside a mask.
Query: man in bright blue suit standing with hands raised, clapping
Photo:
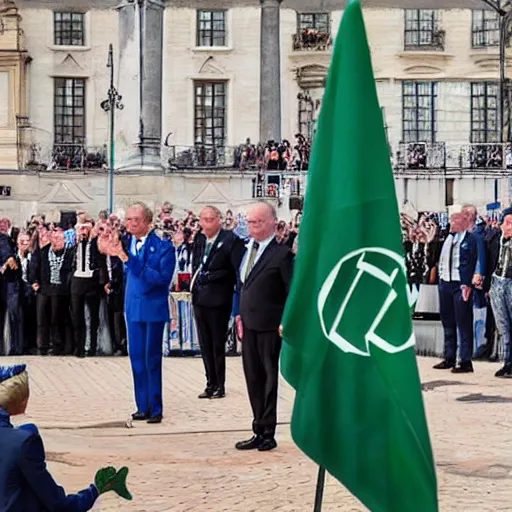
[[[151,229],[152,211],[135,203],[126,211],[128,237],[112,240],[106,252],[126,269],[125,313],[137,411],[134,420],[162,421],[162,340],[169,321],[174,246]]]

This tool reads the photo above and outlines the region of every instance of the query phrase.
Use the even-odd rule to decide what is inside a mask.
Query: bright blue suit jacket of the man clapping
[[[150,232],[141,251],[133,255],[132,237],[125,240],[125,312],[128,322],[169,321],[169,289],[176,254],[174,246]]]

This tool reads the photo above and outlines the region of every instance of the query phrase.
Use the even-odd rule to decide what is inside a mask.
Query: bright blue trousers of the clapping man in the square
[[[137,411],[159,416],[162,404],[162,339],[165,322],[130,322],[128,353],[133,372]]]

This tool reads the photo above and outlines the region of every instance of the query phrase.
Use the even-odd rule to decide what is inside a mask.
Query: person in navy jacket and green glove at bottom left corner
[[[46,469],[43,440],[32,424],[14,428],[10,417],[24,414],[29,398],[25,365],[0,366],[0,509],[2,512],[85,512],[100,494],[115,491],[131,500],[127,468],[96,473],[95,484],[66,495]]]

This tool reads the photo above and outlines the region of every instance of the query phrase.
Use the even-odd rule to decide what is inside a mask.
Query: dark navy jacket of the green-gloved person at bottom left
[[[0,454],[2,512],[86,512],[98,498],[94,485],[66,496],[46,469],[43,440],[37,427],[13,428],[2,409]]]

